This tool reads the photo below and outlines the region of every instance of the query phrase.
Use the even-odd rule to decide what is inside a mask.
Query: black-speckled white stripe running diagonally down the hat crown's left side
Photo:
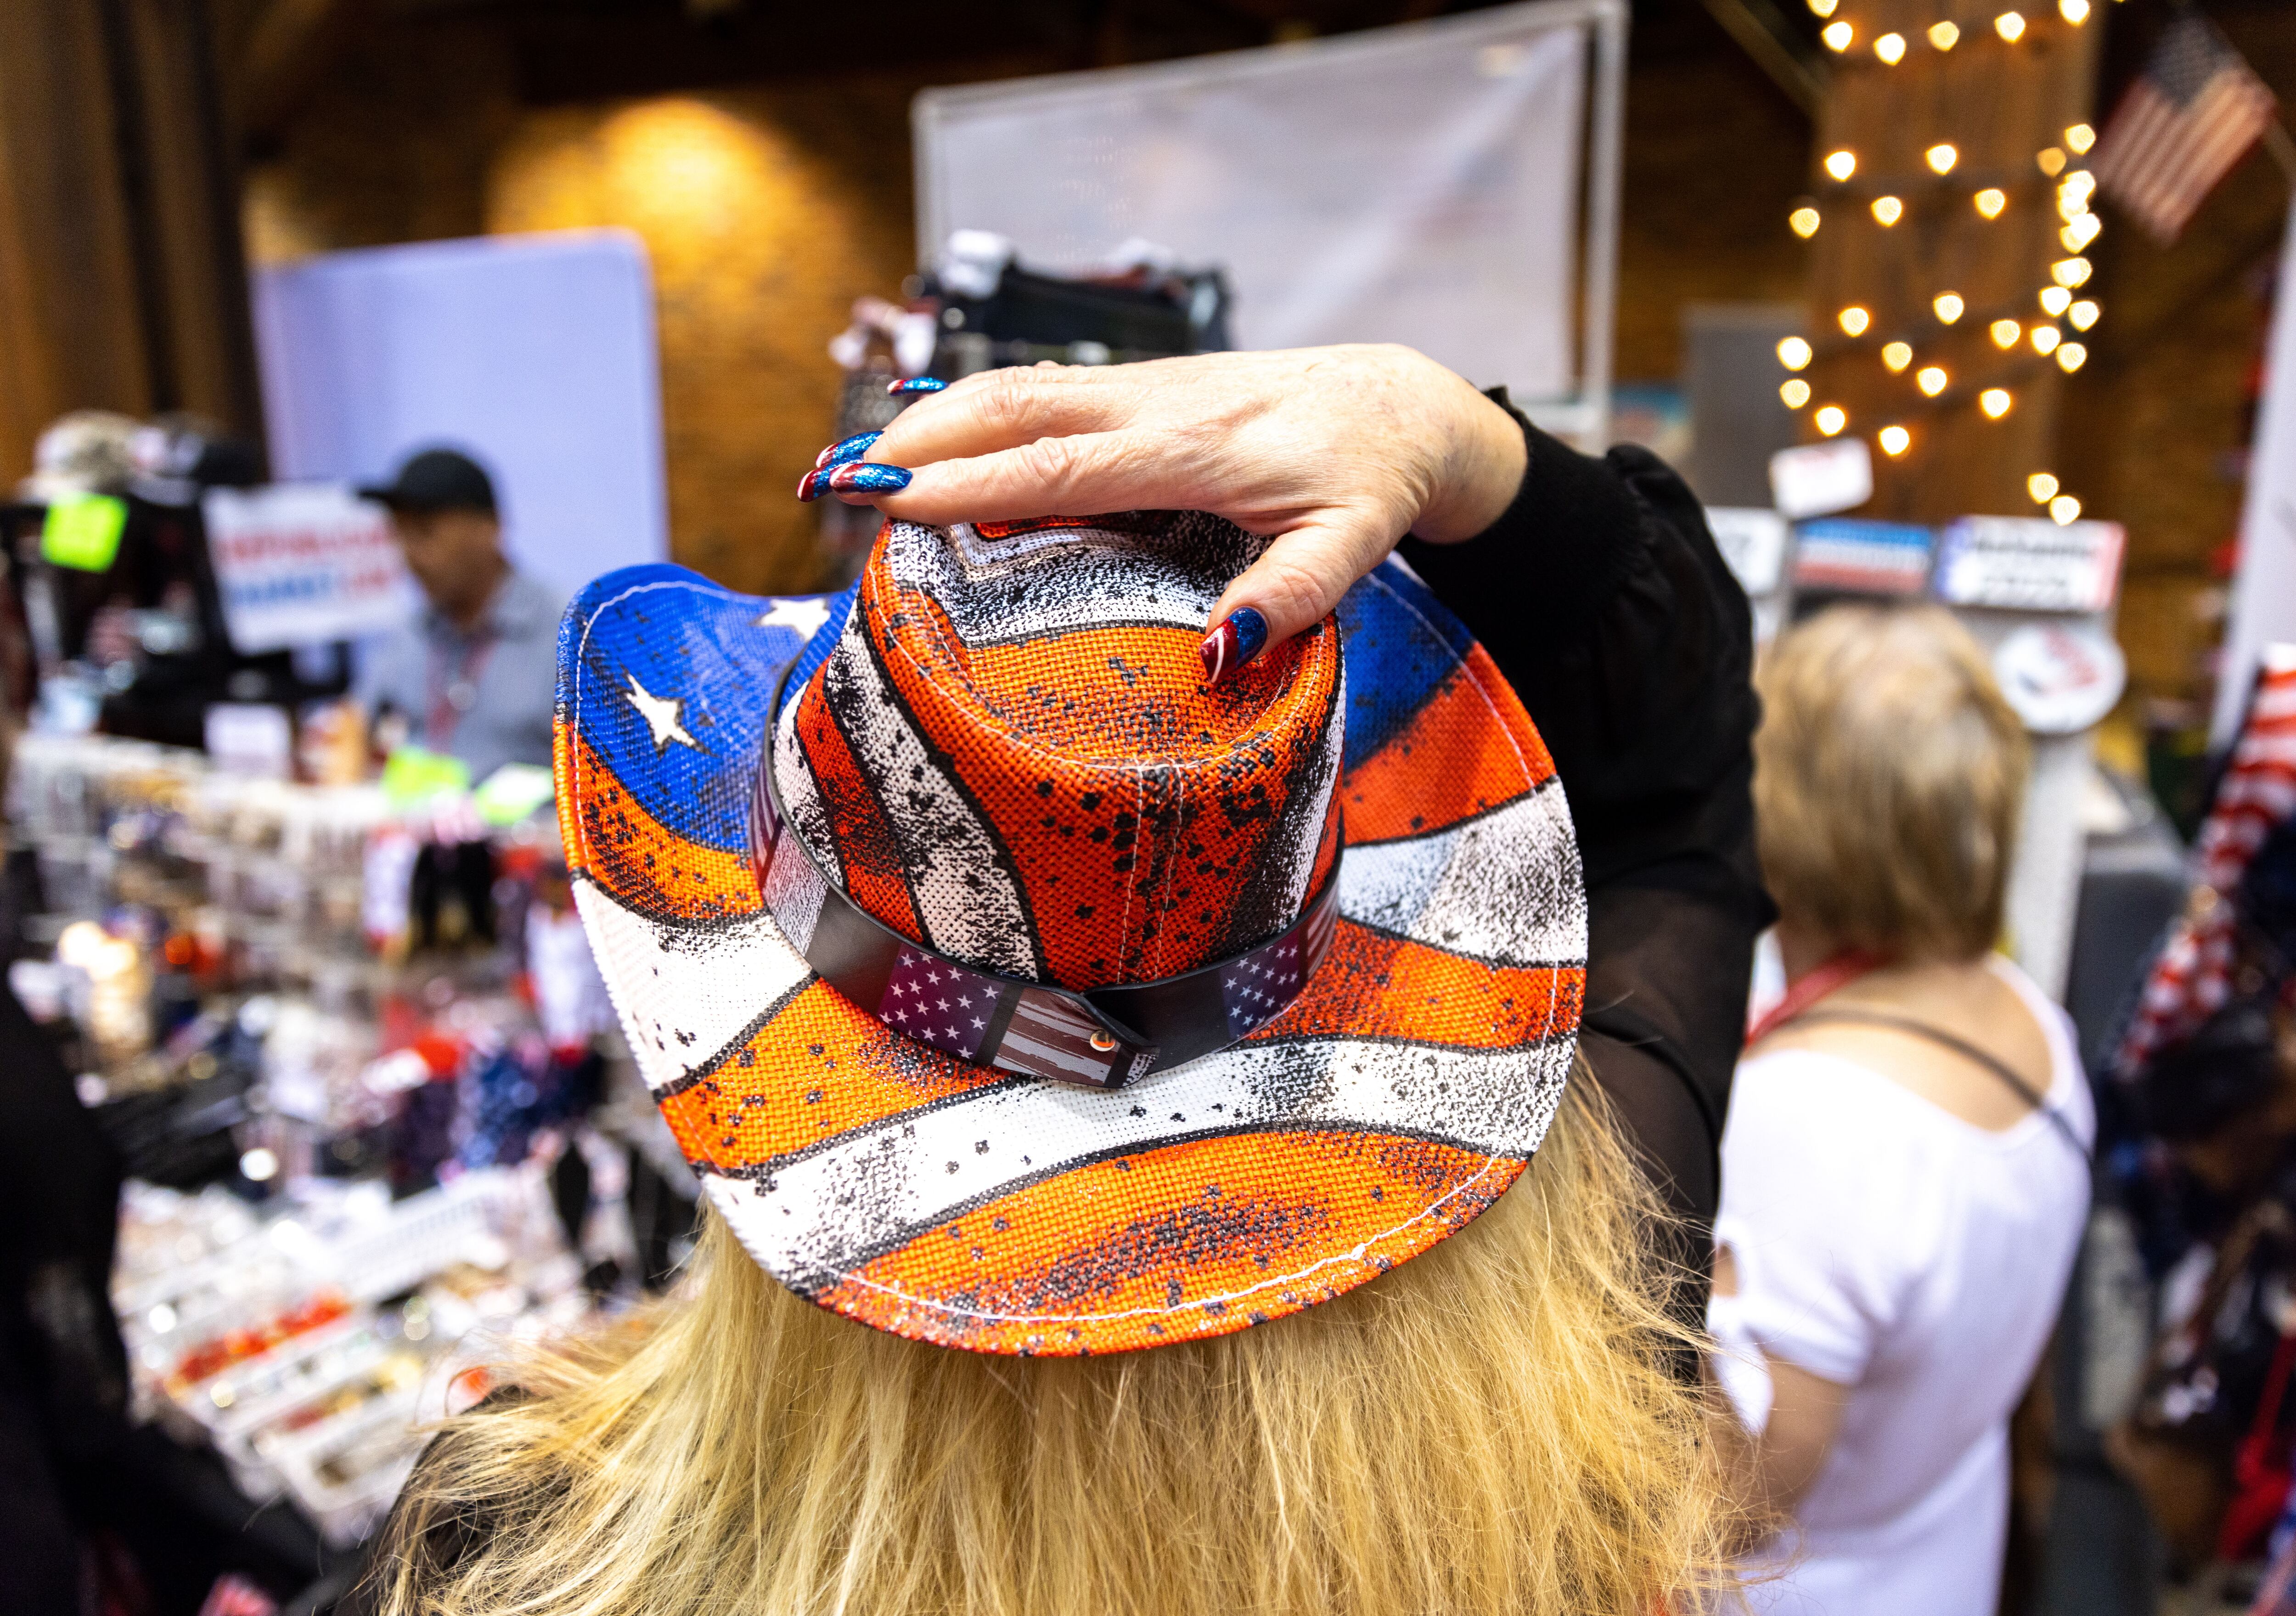
[[[985,971],[1035,978],[1042,966],[1019,881],[999,861],[1001,849],[980,815],[941,771],[944,760],[912,728],[859,627],[822,666],[822,696],[861,774],[879,797],[900,792],[905,799],[886,822],[925,923],[923,941]]]

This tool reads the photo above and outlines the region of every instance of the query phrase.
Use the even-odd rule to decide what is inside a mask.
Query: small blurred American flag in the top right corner
[[[2167,246],[2273,124],[2273,92],[2200,11],[2183,11],[2096,142],[2096,184]]]

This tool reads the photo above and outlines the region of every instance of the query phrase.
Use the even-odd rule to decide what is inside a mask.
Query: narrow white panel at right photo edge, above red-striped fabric
[[[2241,565],[2232,574],[2232,620],[2216,684],[2211,739],[2229,746],[2257,659],[2275,640],[2296,640],[2296,211],[2280,246],[2280,296],[2264,358],[2264,409],[2248,454],[2248,510],[2241,512]]]

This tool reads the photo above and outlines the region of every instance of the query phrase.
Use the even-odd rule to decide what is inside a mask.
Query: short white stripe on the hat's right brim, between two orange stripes
[[[1446,831],[1350,847],[1339,911],[1490,964],[1584,960],[1587,888],[1561,785]]]

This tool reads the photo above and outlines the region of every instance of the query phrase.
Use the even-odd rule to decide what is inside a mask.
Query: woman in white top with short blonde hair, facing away
[[[1789,994],[1731,1093],[1708,1313],[1747,1497],[1791,1517],[1747,1600],[1988,1616],[2094,1132],[2064,1012],[1993,953],[2025,737],[1936,606],[1825,611],[1759,684]]]

